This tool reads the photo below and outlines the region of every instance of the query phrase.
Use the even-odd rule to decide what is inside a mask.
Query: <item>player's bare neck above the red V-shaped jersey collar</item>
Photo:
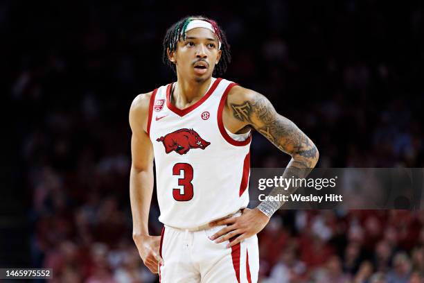
[[[179,78],[174,87],[174,98],[178,106],[184,106],[191,104],[193,101],[198,101],[206,94],[206,91],[211,85],[212,78],[204,80],[202,82],[194,82],[193,80],[182,80]]]

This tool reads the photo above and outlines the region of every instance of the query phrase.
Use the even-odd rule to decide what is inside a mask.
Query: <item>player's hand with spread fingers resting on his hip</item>
[[[210,239],[216,239],[215,243],[222,243],[238,236],[227,245],[227,248],[231,248],[240,243],[240,241],[258,234],[267,225],[268,221],[270,221],[270,218],[258,209],[245,208],[239,217],[224,218],[209,223],[211,227],[227,225],[226,228],[222,228],[213,234]]]

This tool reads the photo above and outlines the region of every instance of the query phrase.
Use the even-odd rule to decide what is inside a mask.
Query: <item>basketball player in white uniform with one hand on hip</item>
[[[256,282],[256,234],[282,203],[246,208],[251,131],[292,156],[283,177],[308,175],[317,148],[265,96],[213,77],[224,73],[230,53],[211,19],[171,26],[164,60],[177,81],[140,94],[130,108],[134,242],[161,282]],[[148,232],[153,160],[161,237]]]

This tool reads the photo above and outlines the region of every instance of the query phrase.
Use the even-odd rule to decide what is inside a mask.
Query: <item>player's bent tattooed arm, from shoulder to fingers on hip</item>
[[[227,104],[222,113],[225,128],[234,133],[247,132],[254,128],[265,136],[281,151],[292,156],[283,178],[305,178],[318,161],[318,150],[315,144],[289,119],[278,114],[270,101],[262,94],[233,87],[228,95]],[[270,196],[291,194],[297,187],[274,188]],[[263,201],[256,209],[243,209],[240,217],[225,218],[213,221],[211,226],[226,225],[212,235],[215,243],[233,239],[228,248],[240,243],[263,230],[270,217],[283,203],[279,201]]]

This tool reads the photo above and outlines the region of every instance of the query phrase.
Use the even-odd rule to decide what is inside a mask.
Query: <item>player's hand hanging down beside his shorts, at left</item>
[[[159,263],[164,264],[164,259],[159,255],[159,246],[161,244],[160,236],[137,235],[132,237],[139,250],[139,254],[145,266],[152,273],[159,273]]]

